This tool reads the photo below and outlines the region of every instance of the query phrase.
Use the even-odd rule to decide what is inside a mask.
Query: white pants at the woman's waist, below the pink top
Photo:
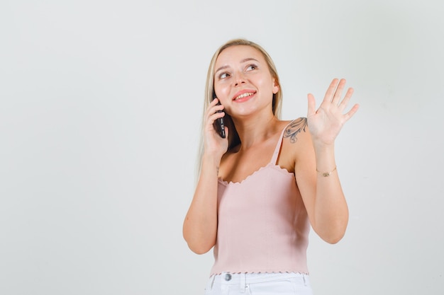
[[[212,275],[205,295],[313,295],[308,274],[222,274]]]

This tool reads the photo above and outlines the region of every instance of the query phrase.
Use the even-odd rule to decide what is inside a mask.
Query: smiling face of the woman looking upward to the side
[[[236,45],[223,50],[216,59],[214,90],[226,112],[236,117],[257,110],[272,113],[273,94],[279,86],[259,50]]]

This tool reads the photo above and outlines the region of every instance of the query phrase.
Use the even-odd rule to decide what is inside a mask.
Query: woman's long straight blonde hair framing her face
[[[270,57],[270,54],[268,54],[260,45],[258,45],[255,42],[245,40],[245,39],[233,39],[229,40],[225,44],[223,44],[221,47],[216,50],[216,52],[213,54],[213,57],[211,59],[208,72],[206,74],[206,86],[205,86],[205,100],[204,100],[204,112],[208,108],[209,104],[211,103],[211,100],[213,100],[213,92],[214,92],[214,68],[216,66],[216,60],[223,52],[223,50],[226,50],[228,47],[237,46],[237,45],[245,45],[250,46],[258,50],[260,53],[262,53],[262,56],[264,57],[265,61],[268,64],[268,69],[270,70],[270,74],[275,80],[275,83],[277,86],[279,86],[279,91],[277,93],[273,94],[273,103],[272,103],[272,110],[274,117],[277,117],[280,119],[281,117],[281,108],[282,108],[282,87],[279,82],[279,76],[277,75],[277,69],[274,65],[274,62],[272,58]],[[235,146],[238,146],[240,144],[240,139],[238,136],[238,132],[235,129],[233,120],[231,119],[231,116],[227,113],[225,114],[225,117],[223,117],[223,120],[225,122],[226,127],[228,127],[228,151],[231,151]],[[199,161],[197,168],[197,175],[200,173],[201,168],[201,158],[202,154],[204,153],[204,122],[205,119],[202,117],[202,127],[201,127],[201,137],[200,137],[200,144],[199,144]]]

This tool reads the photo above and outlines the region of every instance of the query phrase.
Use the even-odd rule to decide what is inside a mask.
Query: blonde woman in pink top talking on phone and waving
[[[348,224],[334,141],[358,106],[345,112],[353,89],[343,97],[344,88],[333,79],[318,109],[309,94],[307,117],[283,121],[279,77],[260,45],[231,40],[213,55],[199,180],[183,227],[194,253],[213,248],[206,294],[311,294],[310,227],[337,243]]]

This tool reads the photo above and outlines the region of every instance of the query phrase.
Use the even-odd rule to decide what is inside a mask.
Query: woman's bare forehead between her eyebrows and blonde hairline
[[[265,62],[262,52],[255,47],[248,45],[234,45],[223,50],[216,59],[216,68],[218,66],[226,66],[238,64],[245,59],[254,58],[258,62]]]

